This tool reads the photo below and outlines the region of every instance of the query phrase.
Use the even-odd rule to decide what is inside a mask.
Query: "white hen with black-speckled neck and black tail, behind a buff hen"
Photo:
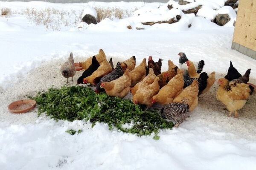
[[[179,66],[180,66],[180,69],[185,69],[187,70],[188,69],[188,66],[186,65],[186,62],[189,60],[187,57],[186,57],[186,54],[183,53],[183,52],[180,52],[178,54],[180,56],[180,59],[179,59]],[[204,68],[204,60],[201,60],[199,62],[193,62],[194,65],[195,65],[195,70],[197,71],[197,73],[201,73],[203,71],[203,68]]]

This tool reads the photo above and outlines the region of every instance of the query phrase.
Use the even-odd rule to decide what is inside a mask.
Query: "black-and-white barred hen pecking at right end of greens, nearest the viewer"
[[[161,109],[161,116],[175,122],[175,127],[182,123],[189,115],[189,105],[184,103],[172,102]]]

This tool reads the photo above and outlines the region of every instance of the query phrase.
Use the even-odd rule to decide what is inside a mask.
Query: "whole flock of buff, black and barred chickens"
[[[146,105],[150,108],[154,103],[165,107],[161,110],[161,116],[175,122],[177,127],[198,105],[198,96],[207,93],[215,82],[215,72],[208,74],[202,72],[204,60],[191,62],[182,52],[178,54],[179,68],[168,61],[168,70],[161,72],[162,60],[154,62],[148,57],[135,67],[135,56],[117,62],[113,67],[112,58],[106,60],[102,49],[99,54],[88,58],[85,62],[79,62],[79,66],[85,71],[77,80],[77,85],[90,83],[96,85],[95,92],[98,94],[105,91],[109,96],[125,97],[129,92],[133,95],[134,104]],[[73,53],[61,67],[61,74],[67,78],[76,74]],[[225,78],[218,80],[219,88],[216,97],[227,106],[230,111],[228,116],[241,109],[250,94],[253,86],[247,85],[250,69],[241,76],[230,61],[230,68]]]

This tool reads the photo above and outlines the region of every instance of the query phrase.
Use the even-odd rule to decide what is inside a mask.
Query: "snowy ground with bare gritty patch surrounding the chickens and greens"
[[[79,11],[86,6],[147,11],[146,8],[158,10],[164,5],[146,3],[141,9],[144,6],[141,2],[0,2],[0,8],[17,11],[9,17],[0,17],[0,170],[256,169],[255,93],[239,111],[240,117],[234,119],[227,117],[224,105],[215,99],[218,88],[215,84],[211,91],[199,97],[198,107],[186,122],[173,130],[161,131],[157,141],[152,136],[110,131],[104,124],[92,128],[83,121],[55,122],[44,115],[38,117],[35,110],[26,114],[12,114],[7,110],[14,100],[65,85],[66,79],[59,69],[71,51],[75,62],[79,62],[97,54],[99,48],[107,58],[113,57],[114,63],[133,55],[137,63],[149,55],[153,59],[162,58],[163,71],[167,70],[168,59],[177,65],[177,54],[183,51],[192,61],[204,59],[204,71],[215,71],[217,78],[226,74],[232,60],[241,74],[251,68],[250,82],[256,84],[256,60],[230,48],[233,23],[220,27],[203,17],[186,15],[172,25],[155,24],[145,30],[129,30],[127,23],[137,26],[136,19],[130,17],[106,19],[96,26],[79,29],[76,24],[61,25],[61,31],[56,31],[30,24],[26,15],[18,12],[26,7]],[[71,136],[65,132],[68,129],[83,131]]]

